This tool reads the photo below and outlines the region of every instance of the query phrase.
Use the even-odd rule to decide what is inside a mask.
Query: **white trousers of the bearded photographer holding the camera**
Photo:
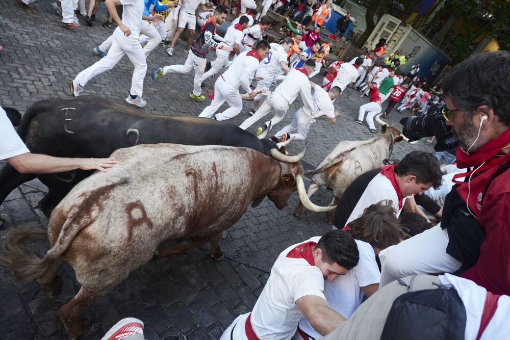
[[[384,286],[414,274],[452,273],[461,263],[446,253],[448,233],[438,224],[422,233],[381,250],[381,281]]]

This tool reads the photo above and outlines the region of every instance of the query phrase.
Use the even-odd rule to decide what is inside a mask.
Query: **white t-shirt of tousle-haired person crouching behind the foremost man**
[[[324,281],[324,296],[327,306],[336,310],[344,318],[349,318],[363,300],[361,287],[379,283],[380,273],[372,246],[366,242],[355,240],[360,251],[358,265],[339,275],[333,282]],[[318,339],[322,337],[304,317],[299,321],[299,328],[308,335]]]

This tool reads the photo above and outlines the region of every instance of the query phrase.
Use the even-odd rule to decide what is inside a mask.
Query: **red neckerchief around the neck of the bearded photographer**
[[[469,202],[466,203],[475,215],[477,215],[477,213],[481,210],[481,200],[483,198],[481,194],[487,185],[487,181],[490,179],[494,171],[496,171],[499,164],[506,162],[508,160],[508,156],[510,156],[510,154],[505,154],[500,157],[497,157],[496,155],[503,147],[509,144],[510,128],[499,137],[489,141],[486,145],[483,145],[473,153],[467,154],[460,147],[457,148],[457,152],[455,154],[457,158],[457,167],[460,169],[477,169],[474,176],[470,178],[469,185],[467,181],[461,182],[458,181],[457,178],[471,176],[474,169],[466,173],[460,173],[453,176],[453,182],[460,185],[457,188],[457,193],[461,196],[461,198],[464,201],[467,201],[469,194]],[[482,163],[483,165],[478,168]],[[494,169],[494,171],[487,171],[489,169]]]

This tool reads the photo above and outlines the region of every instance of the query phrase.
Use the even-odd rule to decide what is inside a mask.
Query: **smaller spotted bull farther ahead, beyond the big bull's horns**
[[[307,195],[311,197],[320,187],[333,190],[330,206],[336,205],[345,189],[359,175],[382,166],[396,142],[402,140],[401,133],[393,126],[382,125],[381,134],[365,141],[341,141],[319,164],[317,169],[307,171],[313,174]],[[294,215],[301,217],[301,202]],[[333,221],[333,213],[326,213],[327,221]]]

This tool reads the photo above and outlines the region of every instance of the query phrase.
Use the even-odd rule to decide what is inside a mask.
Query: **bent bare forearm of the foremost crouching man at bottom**
[[[297,299],[296,306],[310,325],[322,335],[334,331],[345,321],[339,313],[327,307],[326,300],[315,295],[306,295]]]

